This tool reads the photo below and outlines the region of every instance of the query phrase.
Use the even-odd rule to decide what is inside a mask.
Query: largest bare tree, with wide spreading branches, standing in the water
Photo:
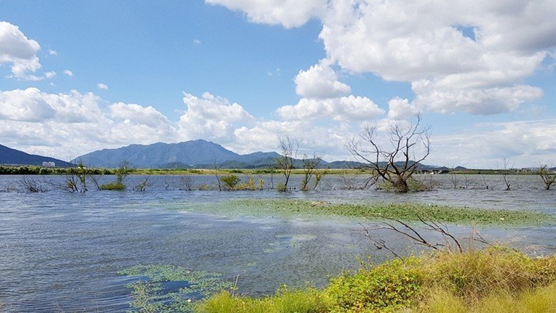
[[[363,143],[353,138],[347,148],[361,163],[361,167],[371,168],[377,178],[391,185],[394,190],[407,193],[410,189],[408,181],[411,175],[431,152],[430,135],[431,128],[423,127],[421,115],[417,115],[415,123],[403,123],[401,120],[390,123],[390,147],[379,143],[378,128],[373,124],[367,125],[361,132]]]

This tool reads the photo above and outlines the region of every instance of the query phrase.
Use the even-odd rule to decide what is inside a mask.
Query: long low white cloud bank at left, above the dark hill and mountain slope
[[[103,148],[175,139],[175,127],[148,106],[114,103],[93,93],[0,92],[0,142],[63,160]],[[172,140],[169,140],[172,141]]]

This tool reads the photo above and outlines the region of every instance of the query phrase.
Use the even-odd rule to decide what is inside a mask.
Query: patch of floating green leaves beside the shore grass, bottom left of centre
[[[132,289],[131,307],[139,312],[192,312],[197,300],[232,287],[218,273],[175,265],[135,265],[118,274],[138,277],[126,287]]]

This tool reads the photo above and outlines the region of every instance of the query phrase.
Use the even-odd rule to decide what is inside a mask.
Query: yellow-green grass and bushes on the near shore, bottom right
[[[363,267],[322,290],[284,289],[262,299],[220,292],[194,307],[212,312],[554,312],[556,257],[503,247],[438,253]]]

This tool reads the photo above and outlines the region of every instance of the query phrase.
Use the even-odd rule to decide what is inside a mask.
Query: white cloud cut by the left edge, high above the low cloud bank
[[[41,49],[38,42],[28,39],[18,26],[0,21],[0,63],[10,63],[11,73],[16,78],[39,80],[29,75],[41,68],[36,53]]]

